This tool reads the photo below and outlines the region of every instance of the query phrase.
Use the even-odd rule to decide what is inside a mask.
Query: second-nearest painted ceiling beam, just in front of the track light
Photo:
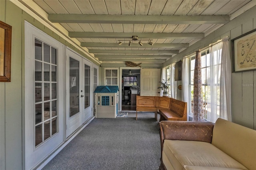
[[[204,33],[141,33],[141,32],[68,32],[70,38],[129,38],[138,36],[138,40],[147,39],[168,39],[168,38],[191,38],[202,39]]]

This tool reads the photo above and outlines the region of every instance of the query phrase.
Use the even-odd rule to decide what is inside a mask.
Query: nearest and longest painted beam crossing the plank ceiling
[[[48,14],[48,20],[58,23],[100,24],[226,24],[229,15],[154,16],[154,15],[94,15]]]

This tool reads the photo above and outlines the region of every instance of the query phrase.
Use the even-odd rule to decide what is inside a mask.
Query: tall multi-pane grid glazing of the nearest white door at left
[[[57,49],[35,39],[35,146],[58,132]]]

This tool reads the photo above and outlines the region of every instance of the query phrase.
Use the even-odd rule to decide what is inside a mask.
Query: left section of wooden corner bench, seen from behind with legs
[[[170,97],[160,96],[137,96],[136,98],[136,121],[138,119],[138,111],[155,112],[155,119],[157,120],[157,113],[159,109],[170,109]]]

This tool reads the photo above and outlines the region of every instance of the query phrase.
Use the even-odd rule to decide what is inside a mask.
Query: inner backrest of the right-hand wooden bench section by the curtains
[[[187,120],[187,103],[176,99],[171,100],[170,110]]]

